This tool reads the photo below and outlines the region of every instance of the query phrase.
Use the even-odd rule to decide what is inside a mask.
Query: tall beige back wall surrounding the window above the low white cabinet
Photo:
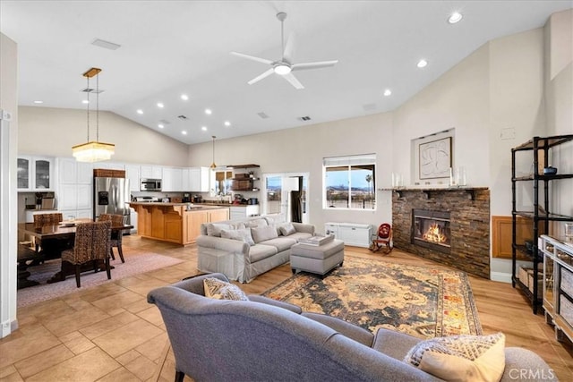
[[[392,173],[392,115],[368,115],[330,123],[215,141],[217,165],[257,164],[264,174],[309,173],[309,216],[317,231],[324,223],[352,222],[381,225],[391,221],[391,195],[377,191],[376,211],[322,208],[322,158],[375,153],[376,188],[389,187]],[[192,145],[191,166],[209,166],[212,143]],[[264,187],[261,185],[261,189]],[[262,195],[259,196],[262,198]]]

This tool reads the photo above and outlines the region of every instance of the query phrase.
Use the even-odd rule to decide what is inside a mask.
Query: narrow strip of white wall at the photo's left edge
[[[16,150],[18,147],[18,47],[0,33],[0,109],[12,114],[9,144],[2,144],[0,166],[0,337],[10,335],[16,320]],[[3,127],[4,129],[4,127]],[[3,140],[3,139],[0,139]],[[8,149],[6,155],[5,151]],[[4,160],[4,159],[7,159]],[[4,163],[6,162],[6,163]],[[7,207],[7,208],[6,208]]]

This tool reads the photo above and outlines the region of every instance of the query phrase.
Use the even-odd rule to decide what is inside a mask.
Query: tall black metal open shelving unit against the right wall
[[[539,264],[543,263],[543,254],[538,249],[537,239],[540,236],[539,228],[543,226],[543,232],[549,233],[549,223],[552,221],[573,221],[573,216],[565,216],[550,211],[549,204],[549,185],[560,179],[573,178],[573,174],[543,174],[543,167],[549,164],[549,153],[551,149],[573,140],[573,134],[556,135],[552,137],[534,137],[532,140],[511,149],[511,216],[512,216],[512,235],[511,235],[511,284],[522,291],[531,301],[534,314],[543,304],[543,291],[539,288],[538,280],[540,275],[543,277],[543,271],[539,271]],[[526,176],[516,176],[516,154],[518,152],[533,153],[533,172]],[[559,166],[558,166],[559,167]],[[517,210],[517,183],[532,183],[534,203],[532,210]],[[541,186],[541,189],[540,189]],[[542,200],[540,200],[540,198]],[[533,245],[528,250],[525,245],[517,244],[517,216],[523,216],[531,220],[533,225]],[[517,252],[524,254],[526,258],[533,262],[533,288],[529,290],[528,286],[521,282],[517,277]]]

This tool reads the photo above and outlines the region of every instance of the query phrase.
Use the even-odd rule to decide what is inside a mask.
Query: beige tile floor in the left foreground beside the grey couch
[[[124,246],[184,262],[19,309],[19,329],[0,340],[0,380],[158,379],[167,334],[146,296],[153,288],[197,274],[196,250],[137,236],[126,237]]]

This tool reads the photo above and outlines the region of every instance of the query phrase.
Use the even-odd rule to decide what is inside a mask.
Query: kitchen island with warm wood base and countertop
[[[189,203],[130,202],[137,212],[138,234],[148,239],[188,245],[201,233],[201,223],[228,220],[229,208]]]

